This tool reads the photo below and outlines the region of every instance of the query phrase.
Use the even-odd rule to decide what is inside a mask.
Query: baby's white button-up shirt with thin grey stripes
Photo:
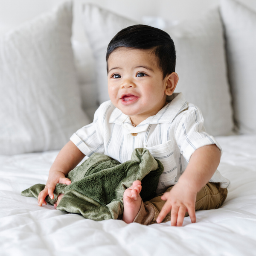
[[[182,93],[168,96],[167,102],[136,127],[111,101],[104,102],[96,110],[93,123],[76,131],[70,140],[88,157],[98,152],[121,163],[131,160],[134,148],[147,148],[164,166],[156,191],[160,194],[177,183],[196,149],[216,144],[222,153],[214,137],[206,133],[198,107],[186,102]],[[220,182],[222,188],[230,184],[218,170],[209,181]]]

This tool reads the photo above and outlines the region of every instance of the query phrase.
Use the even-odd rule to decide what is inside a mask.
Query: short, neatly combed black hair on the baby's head
[[[106,60],[119,47],[132,49],[152,49],[157,57],[158,66],[163,72],[163,79],[175,72],[176,52],[172,38],[161,29],[147,25],[134,25],[120,30],[108,44]]]

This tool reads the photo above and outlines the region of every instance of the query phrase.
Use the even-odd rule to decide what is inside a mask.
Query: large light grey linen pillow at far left
[[[60,149],[89,123],[71,27],[67,2],[0,38],[0,154]]]

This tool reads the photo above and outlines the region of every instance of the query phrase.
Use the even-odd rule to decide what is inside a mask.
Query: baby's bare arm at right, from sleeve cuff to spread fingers
[[[186,211],[192,223],[195,223],[195,201],[200,189],[206,185],[216,171],[221,159],[221,152],[214,145],[198,148],[190,157],[185,172],[180,176],[178,183],[161,197],[165,200],[157,223],[163,221],[171,211],[171,225],[182,226]]]

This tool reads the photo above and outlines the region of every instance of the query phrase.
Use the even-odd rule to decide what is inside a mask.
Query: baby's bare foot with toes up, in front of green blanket
[[[135,180],[128,189],[124,192],[124,212],[122,220],[125,223],[131,223],[140,210],[141,198],[141,182]]]

